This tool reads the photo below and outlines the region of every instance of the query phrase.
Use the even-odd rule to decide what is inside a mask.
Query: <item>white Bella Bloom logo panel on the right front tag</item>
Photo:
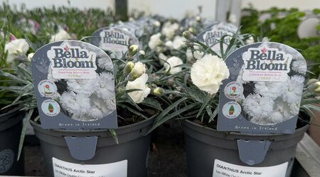
[[[249,48],[242,55],[244,81],[286,81],[292,55],[262,45]]]

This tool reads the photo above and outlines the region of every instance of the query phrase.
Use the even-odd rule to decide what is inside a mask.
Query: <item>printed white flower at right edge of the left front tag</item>
[[[112,98],[114,96],[113,82],[112,74],[102,72],[97,78],[97,89],[95,89],[97,97],[102,98],[105,101]]]

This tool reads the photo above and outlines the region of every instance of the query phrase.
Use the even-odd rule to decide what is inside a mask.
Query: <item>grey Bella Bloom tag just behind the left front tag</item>
[[[130,45],[139,45],[138,39],[132,33],[113,27],[96,30],[92,33],[90,43],[114,53],[117,58],[121,58]]]

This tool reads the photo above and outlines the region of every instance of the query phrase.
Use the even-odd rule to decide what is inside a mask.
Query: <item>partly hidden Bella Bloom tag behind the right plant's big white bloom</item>
[[[197,35],[197,39],[211,47],[211,49],[221,55],[221,50],[226,50],[232,36],[237,33],[238,28],[231,23],[214,23],[206,30]],[[220,49],[220,40],[223,40],[223,49]]]

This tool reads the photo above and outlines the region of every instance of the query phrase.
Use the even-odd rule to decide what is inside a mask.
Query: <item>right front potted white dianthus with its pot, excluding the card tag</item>
[[[318,107],[312,105],[312,103],[319,103],[319,96],[316,95],[319,84],[312,84],[317,80],[311,80],[304,86],[297,130],[294,134],[218,132],[216,127],[219,110],[219,86],[224,79],[228,79],[230,72],[223,59],[230,55],[235,48],[244,45],[245,40],[251,35],[236,33],[226,50],[223,50],[223,44],[220,45],[221,51],[225,51],[221,52],[221,55],[199,42],[190,31],[184,32],[183,36],[187,39],[186,44],[191,46],[193,58],[176,66],[182,69],[171,78],[174,79],[175,86],[169,88],[171,93],[174,93],[175,102],[156,118],[151,130],[171,118],[182,120],[186,140],[188,176],[218,175],[219,172],[214,170],[217,168],[233,172],[237,171],[237,168],[242,168],[243,171],[247,170],[249,171],[247,173],[253,174],[255,170],[262,171],[263,168],[270,166],[283,168],[282,175],[289,176],[297,143],[308,128],[309,115],[313,114],[311,110],[320,111]],[[255,38],[255,41],[258,40],[261,39]],[[223,43],[223,39],[220,43]],[[232,105],[228,111],[230,115],[233,115],[235,107]],[[240,161],[236,139],[260,141],[272,139],[273,142],[267,149],[267,155],[262,163],[248,166]],[[250,150],[248,149],[248,151]],[[288,164],[281,166],[284,163]],[[235,168],[235,166],[241,167]],[[253,168],[250,169],[251,167]],[[258,167],[263,168],[259,169]]]

